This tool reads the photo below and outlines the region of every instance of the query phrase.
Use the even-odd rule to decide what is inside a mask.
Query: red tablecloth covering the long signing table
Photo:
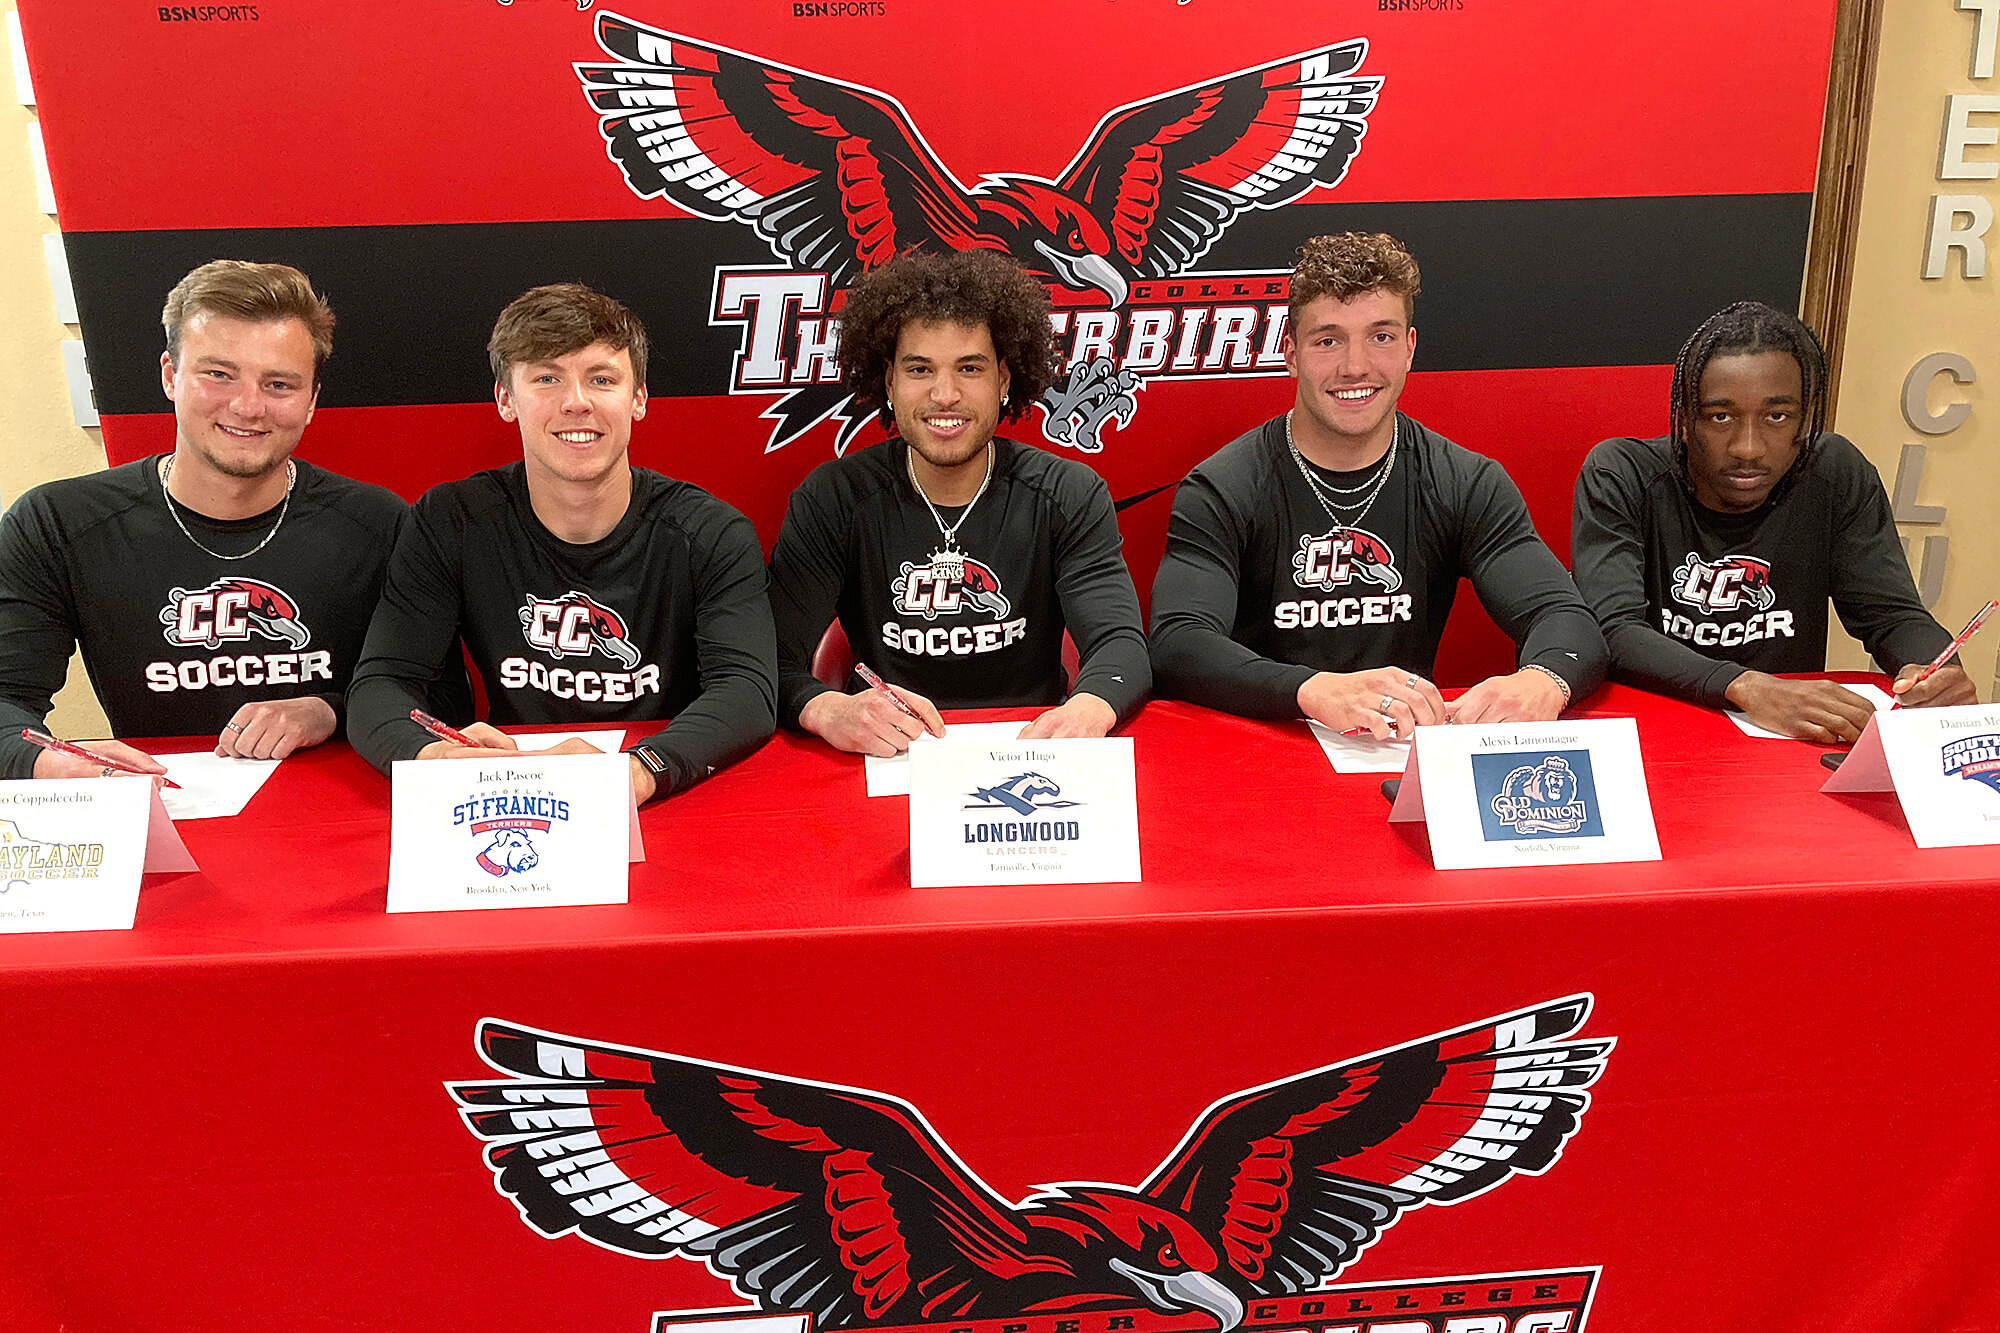
[[[400,917],[388,785],[306,753],[182,825],[204,873],[150,879],[134,931],[0,937],[0,1329],[748,1305],[524,1225],[444,1087],[500,1077],[482,1019],[898,1097],[1014,1203],[1136,1187],[1242,1089],[1582,993],[1576,1039],[1616,1045],[1562,1155],[1404,1209],[1334,1279],[1372,1295],[1246,1333],[2000,1329],[2000,853],[1918,851],[1894,797],[1824,797],[1816,747],[1714,713],[1584,715],[1638,717],[1664,861],[1436,873],[1304,725],[1154,703],[1142,885],[912,891],[906,803],[780,735],[642,813],[626,907]],[[1478,1313],[1514,1283],[1554,1313]],[[950,1327],[1104,1327],[1064,1323]]]

